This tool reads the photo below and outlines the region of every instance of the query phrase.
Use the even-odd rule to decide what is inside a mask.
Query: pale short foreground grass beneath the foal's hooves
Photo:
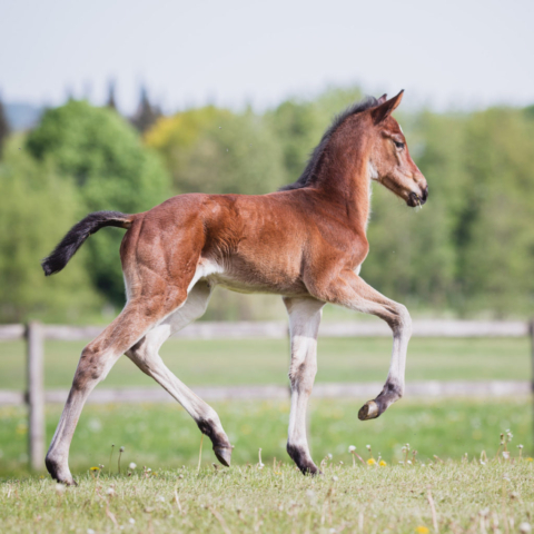
[[[79,486],[32,477],[0,490],[2,532],[517,533],[534,514],[532,462],[481,465],[186,467],[83,475]],[[432,505],[435,514],[432,512]]]

